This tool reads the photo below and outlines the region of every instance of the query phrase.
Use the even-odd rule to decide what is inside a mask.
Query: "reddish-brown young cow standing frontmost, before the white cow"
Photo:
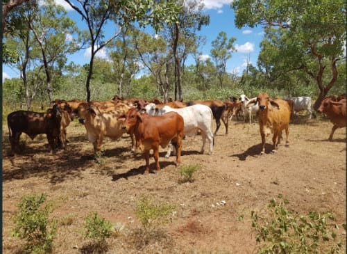
[[[147,113],[139,113],[137,109],[130,109],[126,115],[118,119],[124,120],[122,125],[124,131],[134,131],[136,143],[140,150],[144,151],[145,173],[149,173],[150,150],[153,150],[155,170],[157,173],[160,171],[159,145],[166,148],[170,141],[176,148],[176,166],[180,165],[184,120],[178,113],[168,112],[162,116],[149,116]]]

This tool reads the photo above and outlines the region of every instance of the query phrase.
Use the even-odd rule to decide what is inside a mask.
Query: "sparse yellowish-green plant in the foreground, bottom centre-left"
[[[155,225],[167,223],[167,216],[174,211],[173,205],[152,203],[149,198],[142,197],[136,204],[135,215],[141,222],[144,230],[151,230]]]

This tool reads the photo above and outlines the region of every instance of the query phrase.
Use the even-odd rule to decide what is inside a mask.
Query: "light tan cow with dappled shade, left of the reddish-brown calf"
[[[99,102],[83,102],[78,106],[79,122],[85,125],[88,140],[94,147],[94,153],[101,151],[105,136],[117,140],[126,133],[117,118],[123,116],[129,109],[130,107],[123,103],[114,103],[107,108]],[[133,135],[130,134],[130,136],[133,143]]]

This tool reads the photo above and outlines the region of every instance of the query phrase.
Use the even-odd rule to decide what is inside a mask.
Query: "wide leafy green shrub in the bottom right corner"
[[[271,200],[260,213],[251,212],[252,226],[257,232],[257,242],[264,242],[257,253],[340,253],[342,242],[338,239],[330,212],[310,212],[300,215],[290,212],[288,200]]]

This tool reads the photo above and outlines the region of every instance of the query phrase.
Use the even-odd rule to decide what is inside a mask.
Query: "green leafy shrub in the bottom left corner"
[[[24,253],[51,253],[53,239],[56,236],[56,221],[49,219],[51,205],[43,205],[44,193],[23,196],[17,204],[18,212],[14,216],[13,236],[24,239]]]

